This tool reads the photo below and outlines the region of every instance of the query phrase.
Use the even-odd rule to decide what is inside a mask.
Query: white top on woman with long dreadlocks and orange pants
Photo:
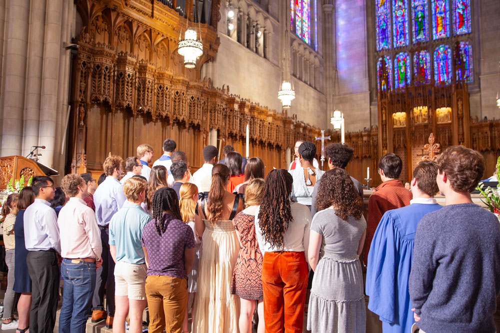
[[[307,250],[309,248],[309,232],[312,221],[311,212],[306,206],[296,202],[292,202],[290,204],[290,209],[293,222],[288,223],[288,229],[284,232],[283,246],[280,248],[274,248],[269,243],[264,242],[264,239],[262,238],[262,230],[260,230],[258,225],[258,213],[260,211],[260,206],[257,208],[255,211],[255,235],[257,237],[258,248],[262,253],[262,257],[265,252],[303,251],[305,254],[305,260],[309,262]]]

